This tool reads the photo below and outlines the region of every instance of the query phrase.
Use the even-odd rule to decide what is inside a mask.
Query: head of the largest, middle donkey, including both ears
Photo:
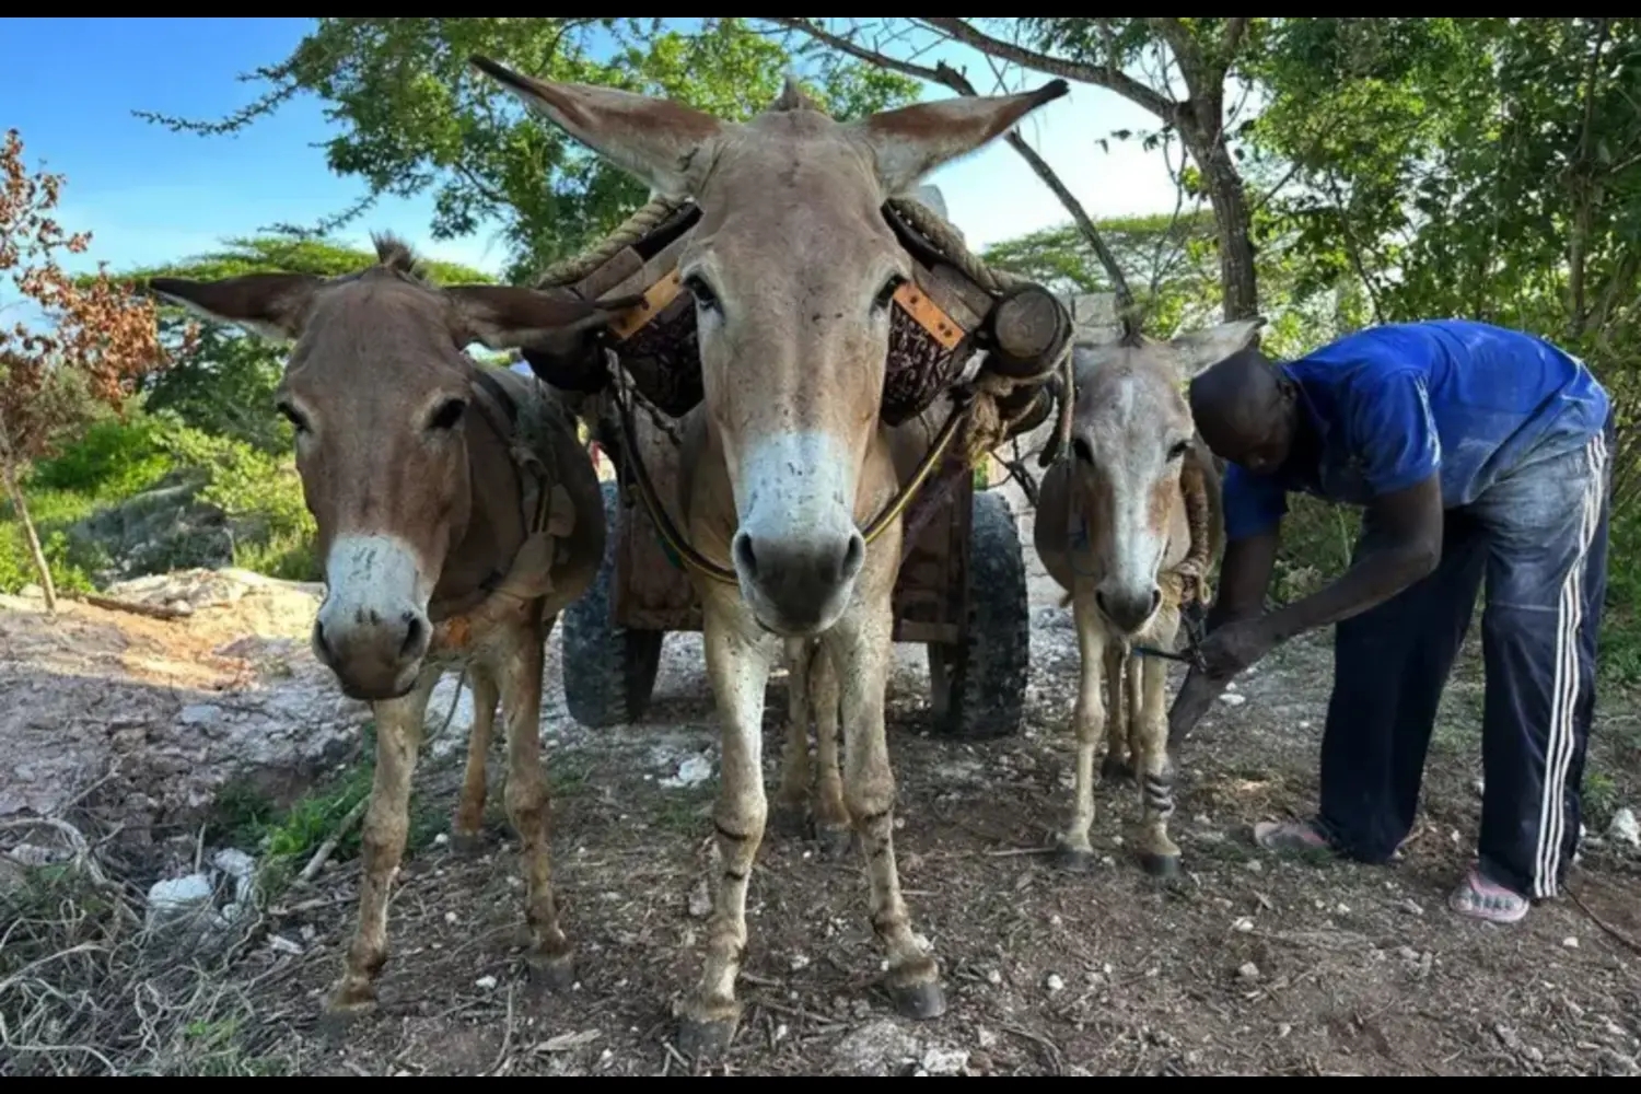
[[[911,259],[883,203],[1065,82],[840,123],[788,80],[740,125],[473,64],[655,194],[699,205],[678,272],[694,295],[707,428],[734,490],[742,597],[771,631],[829,628],[865,563],[857,522],[886,500],[862,490],[862,469],[880,428],[891,299]]]

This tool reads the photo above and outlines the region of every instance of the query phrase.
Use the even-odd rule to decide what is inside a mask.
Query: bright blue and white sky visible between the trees
[[[98,259],[120,269],[164,262],[249,235],[274,221],[312,223],[364,192],[333,175],[323,149],[335,131],[312,95],[235,136],[195,136],[131,115],[153,110],[213,120],[251,102],[263,84],[241,82],[256,66],[284,59],[309,18],[3,18],[0,126],[21,131],[30,167],[67,175],[59,213],[71,230],[94,233],[71,269]],[[985,89],[988,69],[957,46],[919,57],[967,66]],[[72,62],[71,62],[72,61]],[[1029,74],[1027,85],[1047,77]],[[947,97],[937,89],[929,98]],[[1098,138],[1154,120],[1119,97],[1073,84],[1021,133],[1049,159],[1090,212],[1122,215],[1173,208],[1159,156],[1132,146],[1104,153]],[[44,162],[43,162],[44,161]],[[930,179],[971,244],[988,244],[1060,223],[1065,213],[1024,161],[1001,141]],[[382,198],[345,238],[364,244],[371,230],[395,230],[428,256],[496,272],[504,254],[486,230],[433,241],[430,198]]]

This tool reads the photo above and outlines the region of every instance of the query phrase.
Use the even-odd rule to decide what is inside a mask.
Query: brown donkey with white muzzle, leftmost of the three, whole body
[[[149,289],[215,320],[295,344],[277,389],[318,525],[325,600],[313,654],[376,717],[376,781],[361,840],[359,922],[333,1020],[376,1007],[387,894],[404,855],[410,776],[428,695],[473,674],[473,732],[455,845],[479,845],[496,704],[507,725],[507,815],[519,835],[543,989],[573,979],[548,864],[540,759],[543,646],[604,554],[602,495],[574,425],[545,385],[476,364],[463,348],[540,344],[609,321],[610,305],[528,289],[438,289],[410,249],[377,236],[377,262],[343,277],[154,277]]]

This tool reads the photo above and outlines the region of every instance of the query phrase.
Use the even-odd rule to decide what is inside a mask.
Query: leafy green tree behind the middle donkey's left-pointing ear
[[[606,59],[594,56],[599,49]],[[469,67],[474,52],[543,79],[661,93],[725,118],[768,107],[789,64],[779,43],[740,18],[320,18],[289,57],[256,71],[271,87],[233,116],[138,116],[179,131],[231,133],[300,92],[317,93],[343,125],[327,149],[330,167],[368,187],[318,231],[354,220],[382,194],[432,189],[435,238],[497,220],[514,259],[507,279],[527,282],[602,239],[648,195],[525,116],[510,93]],[[850,118],[916,100],[917,84],[845,64],[827,67],[806,90]]]

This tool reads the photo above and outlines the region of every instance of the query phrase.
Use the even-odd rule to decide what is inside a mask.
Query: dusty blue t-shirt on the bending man
[[[1367,505],[1441,474],[1442,504],[1469,505],[1526,459],[1582,446],[1607,423],[1607,390],[1577,358],[1488,323],[1393,323],[1347,335],[1282,366],[1321,459],[1268,476],[1229,464],[1226,538],[1277,526],[1288,492]]]

